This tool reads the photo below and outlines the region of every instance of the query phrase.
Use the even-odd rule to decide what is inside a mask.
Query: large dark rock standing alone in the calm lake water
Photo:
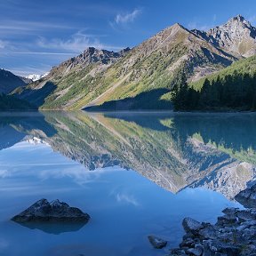
[[[41,199],[32,204],[24,212],[14,216],[13,221],[25,222],[87,222],[90,215],[82,212],[76,207],[70,207],[58,199],[49,203],[46,199]]]

